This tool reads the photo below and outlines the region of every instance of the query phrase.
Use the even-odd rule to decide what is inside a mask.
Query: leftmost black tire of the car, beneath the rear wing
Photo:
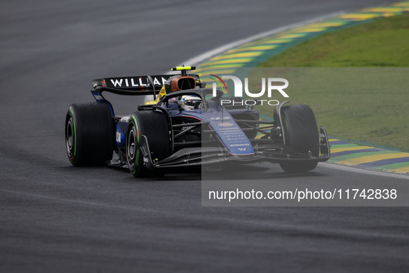
[[[65,118],[66,153],[73,166],[102,166],[112,159],[115,123],[105,103],[77,103]]]

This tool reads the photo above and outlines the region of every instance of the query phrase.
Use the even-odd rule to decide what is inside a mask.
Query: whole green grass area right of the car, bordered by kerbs
[[[409,150],[409,69],[373,69],[409,67],[409,13],[307,40],[260,67],[367,67],[284,69],[286,90],[328,134]]]

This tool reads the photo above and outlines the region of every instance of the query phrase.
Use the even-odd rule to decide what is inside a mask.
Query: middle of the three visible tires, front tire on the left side
[[[161,177],[165,175],[163,170],[150,170],[144,164],[141,148],[145,140],[152,160],[169,157],[170,134],[165,114],[158,111],[140,111],[132,114],[126,143],[129,171],[134,177]]]

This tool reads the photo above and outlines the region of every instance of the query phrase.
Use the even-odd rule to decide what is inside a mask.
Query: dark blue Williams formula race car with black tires
[[[253,106],[208,89],[194,67],[178,75],[93,80],[95,103],[77,103],[66,113],[66,152],[73,166],[129,168],[136,177],[164,175],[170,168],[227,162],[269,161],[287,173],[303,173],[330,157],[327,133],[307,105],[277,105],[273,121]],[[156,96],[156,90],[161,88]],[[116,116],[102,92],[153,95],[136,112]],[[230,101],[221,105],[221,100]],[[116,158],[113,159],[113,152]]]

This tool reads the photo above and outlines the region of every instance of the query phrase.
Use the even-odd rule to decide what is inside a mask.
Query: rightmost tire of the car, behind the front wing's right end
[[[287,105],[281,111],[286,145],[296,152],[318,157],[319,134],[312,109],[308,105]],[[317,164],[317,161],[287,161],[280,166],[286,173],[305,173]]]

